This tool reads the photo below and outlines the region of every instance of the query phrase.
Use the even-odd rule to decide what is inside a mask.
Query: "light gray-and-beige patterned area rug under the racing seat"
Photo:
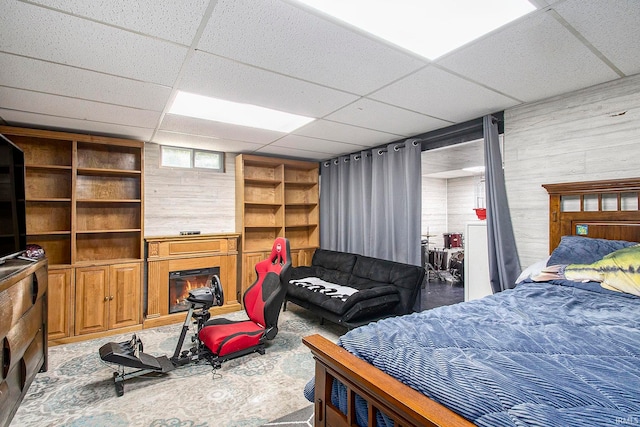
[[[225,317],[241,319],[244,313]],[[170,356],[180,328],[145,329],[138,336],[146,353]],[[318,333],[335,342],[345,331],[329,322],[320,325],[315,315],[289,304],[265,355],[227,361],[215,372],[203,362],[127,380],[122,397],[116,395],[114,369],[100,360],[98,349],[132,334],[50,347],[49,370],[36,375],[11,427],[261,426],[309,407],[303,390],[314,361],[302,337]]]

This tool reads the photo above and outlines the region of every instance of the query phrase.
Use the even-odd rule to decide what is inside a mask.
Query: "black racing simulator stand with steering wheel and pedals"
[[[213,276],[211,286],[189,291],[186,301],[189,303],[189,310],[187,311],[187,316],[182,324],[182,330],[173,356],[155,357],[145,353],[142,341],[136,335],[133,335],[133,337],[128,341],[119,343],[109,342],[100,347],[100,359],[105,362],[115,363],[119,366],[118,371],[113,373],[116,394],[118,396],[122,396],[124,394],[125,380],[139,377],[141,375],[146,375],[152,372],[164,374],[173,371],[179,366],[184,366],[201,359],[207,359],[214,368],[220,367],[219,362],[216,363],[213,360],[213,354],[205,347],[202,341],[197,338],[197,334],[200,333],[206,322],[211,317],[209,309],[211,307],[221,306],[224,304],[224,294],[220,278],[218,276]],[[196,335],[191,337],[191,341],[194,345],[188,350],[182,350],[184,340],[187,336],[187,331],[192,322],[197,328]],[[125,368],[133,368],[135,370],[126,372]]]

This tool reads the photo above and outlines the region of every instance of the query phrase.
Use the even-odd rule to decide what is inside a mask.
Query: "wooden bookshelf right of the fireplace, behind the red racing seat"
[[[319,246],[318,163],[241,154],[236,157],[236,231],[241,233],[242,290],[277,237],[294,265],[309,265]]]

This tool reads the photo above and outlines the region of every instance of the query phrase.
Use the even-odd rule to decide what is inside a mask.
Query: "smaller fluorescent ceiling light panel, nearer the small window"
[[[285,133],[293,132],[315,120],[257,105],[182,91],[178,91],[169,113]]]

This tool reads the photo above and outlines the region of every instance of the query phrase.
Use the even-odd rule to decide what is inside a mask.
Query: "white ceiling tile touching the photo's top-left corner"
[[[12,1],[0,14],[0,51],[173,85],[187,48]]]

